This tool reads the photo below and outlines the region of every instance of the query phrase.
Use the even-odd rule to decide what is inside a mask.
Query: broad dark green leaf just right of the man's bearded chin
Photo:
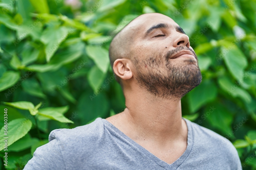
[[[216,96],[216,85],[212,81],[203,80],[199,86],[188,94],[189,108],[191,112],[194,113],[207,102],[214,100]]]

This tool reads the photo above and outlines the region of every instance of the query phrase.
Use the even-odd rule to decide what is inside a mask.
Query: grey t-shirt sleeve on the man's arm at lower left
[[[58,139],[54,136],[52,132],[49,135],[49,142],[36,149],[33,154],[33,158],[28,161],[28,163],[24,167],[24,170],[66,170]]]

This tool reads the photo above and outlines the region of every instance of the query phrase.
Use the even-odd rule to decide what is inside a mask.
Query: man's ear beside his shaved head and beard
[[[114,73],[123,80],[131,79],[133,74],[130,68],[130,62],[127,58],[116,59],[113,64]]]

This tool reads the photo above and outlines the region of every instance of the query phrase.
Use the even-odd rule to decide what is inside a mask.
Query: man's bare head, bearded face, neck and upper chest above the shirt
[[[145,34],[159,23],[167,27]],[[173,163],[187,147],[180,100],[202,78],[189,37],[168,16],[143,14],[113,38],[110,61],[126,108],[106,120],[159,159]]]

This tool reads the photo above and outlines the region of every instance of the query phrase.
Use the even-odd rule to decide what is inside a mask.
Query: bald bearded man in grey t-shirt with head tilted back
[[[158,13],[140,15],[113,38],[109,54],[125,110],[53,130],[25,170],[242,169],[230,141],[182,118],[180,100],[202,77],[177,23]]]

